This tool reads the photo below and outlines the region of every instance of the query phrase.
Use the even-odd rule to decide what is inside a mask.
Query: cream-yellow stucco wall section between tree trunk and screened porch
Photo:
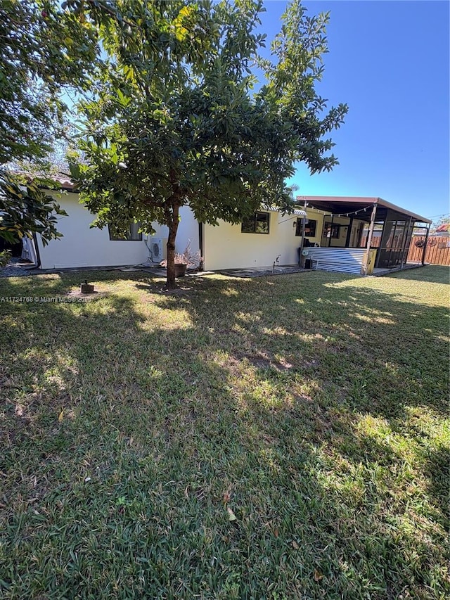
[[[267,212],[262,210],[261,212]],[[323,217],[307,211],[308,218],[316,219],[316,238],[321,239]],[[271,267],[278,255],[278,264],[297,264],[297,248],[301,237],[295,236],[296,215],[270,212],[269,234],[243,234],[240,224],[219,221],[219,226],[204,226],[203,257],[207,270]]]

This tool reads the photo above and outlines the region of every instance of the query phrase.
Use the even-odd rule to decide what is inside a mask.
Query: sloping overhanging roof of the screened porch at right
[[[428,223],[430,219],[426,219],[416,212],[411,212],[406,208],[401,208],[395,204],[383,200],[383,198],[374,198],[371,196],[297,196],[297,202],[306,201],[307,205],[312,208],[317,208],[330,215],[346,215],[356,217],[362,221],[369,221],[371,218],[371,210],[373,205],[377,206],[377,218],[383,218],[387,214],[387,210],[394,210],[400,215],[412,217],[415,222]]]

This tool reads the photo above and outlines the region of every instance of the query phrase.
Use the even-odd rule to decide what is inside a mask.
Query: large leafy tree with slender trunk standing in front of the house
[[[261,11],[259,0],[117,0],[103,11],[108,69],[82,103],[84,160],[72,174],[94,225],[117,234],[130,221],[146,233],[153,222],[168,226],[167,288],[182,205],[210,224],[241,222],[261,205],[289,211],[295,161],[311,172],[337,162],[323,136],[347,106],[322,116],[314,89],[328,16],[309,17],[294,0],[273,60],[262,60]],[[266,77],[259,89],[256,65]]]

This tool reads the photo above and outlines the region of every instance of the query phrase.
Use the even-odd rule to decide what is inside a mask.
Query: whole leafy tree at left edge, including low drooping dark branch
[[[65,213],[35,184],[19,187],[14,171],[29,161],[49,174],[53,143],[65,135],[62,94],[89,91],[101,63],[98,3],[63,4],[0,1],[0,236],[12,243],[32,232],[44,243],[59,237],[56,217]],[[86,18],[88,8],[93,18]]]

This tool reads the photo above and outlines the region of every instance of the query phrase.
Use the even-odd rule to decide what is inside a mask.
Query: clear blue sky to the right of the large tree
[[[285,1],[265,0],[268,42]],[[331,135],[340,165],[311,177],[298,165],[300,195],[379,196],[423,217],[449,208],[449,3],[304,1],[330,11],[329,53],[316,86],[329,105],[345,102]]]

